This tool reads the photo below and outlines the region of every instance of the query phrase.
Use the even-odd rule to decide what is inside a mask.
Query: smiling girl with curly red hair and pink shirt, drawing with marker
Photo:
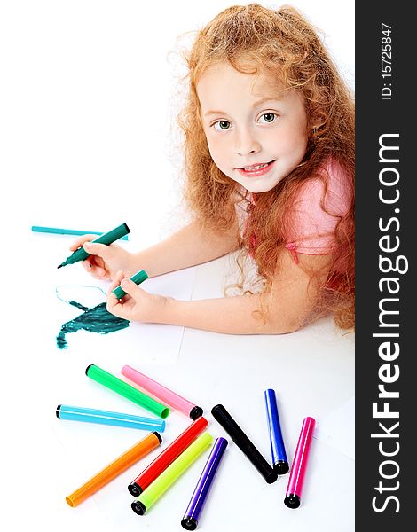
[[[354,325],[354,107],[311,25],[291,7],[224,10],[187,58],[186,199],[193,221],[130,254],[77,239],[117,317],[234,334],[294,332],[331,311]],[[240,249],[262,289],[203,301],[146,293],[129,277]],[[112,293],[122,283],[128,294]],[[242,285],[240,285],[242,286]]]

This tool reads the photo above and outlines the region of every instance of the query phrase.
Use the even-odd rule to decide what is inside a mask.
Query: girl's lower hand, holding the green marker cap
[[[118,300],[113,293],[116,286],[122,286],[126,295]],[[163,317],[173,298],[147,293],[118,271],[107,294],[107,310],[114,316],[144,323],[164,323]]]

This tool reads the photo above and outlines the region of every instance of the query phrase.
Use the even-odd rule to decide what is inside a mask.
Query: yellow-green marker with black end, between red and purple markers
[[[149,508],[165,493],[169,486],[185,472],[193,461],[198,458],[213,442],[209,433],[201,434],[185,451],[176,458],[171,465],[155,479],[140,496],[131,504],[133,512],[144,515]]]

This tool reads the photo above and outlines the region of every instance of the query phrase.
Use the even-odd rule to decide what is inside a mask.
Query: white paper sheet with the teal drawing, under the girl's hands
[[[42,325],[43,340],[48,337],[48,345],[56,346],[56,337],[59,334],[61,325],[74,319],[82,313],[65,301],[59,300],[56,288],[64,299],[72,295],[71,299],[83,298],[83,290],[86,300],[77,301],[86,306],[90,306],[93,301],[98,304],[106,301],[106,291],[109,283],[99,282],[91,278],[80,264],[68,265],[65,268],[57,269],[59,262],[62,262],[68,253],[67,246],[70,240],[62,239],[50,235],[39,235],[34,233],[32,244],[36,247],[36,253],[42,257],[42,261],[35,264],[35,275],[37,285],[35,291],[38,294],[39,316],[45,319]],[[123,243],[129,247],[129,244]],[[179,300],[189,300],[193,291],[195,269],[175,271],[158,278],[146,279],[141,285],[150,293],[161,293]],[[99,290],[89,290],[88,287],[96,286]],[[94,295],[94,297],[92,297]],[[47,317],[47,319],[46,319]],[[38,325],[41,321],[38,321]],[[131,322],[129,327],[121,331],[110,332],[108,334],[98,334],[87,331],[77,331],[67,333],[67,348],[59,349],[59,353],[66,356],[80,356],[83,353],[95,353],[95,363],[99,364],[99,359],[106,359],[107,356],[121,356],[124,364],[132,364],[140,361],[141,364],[175,364],[184,327],[176,325],[155,325],[139,324]]]

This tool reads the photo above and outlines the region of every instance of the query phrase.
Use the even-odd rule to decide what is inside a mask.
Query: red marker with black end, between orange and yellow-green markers
[[[177,437],[161,454],[151,462],[136,479],[130,482],[128,489],[134,497],[139,495],[153,482],[162,471],[171,464],[179,455],[190,446],[197,436],[208,426],[206,418],[196,419],[185,431]]]

